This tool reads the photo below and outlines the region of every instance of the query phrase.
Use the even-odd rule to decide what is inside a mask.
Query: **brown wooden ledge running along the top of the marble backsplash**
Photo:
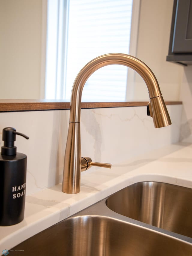
[[[82,102],[81,108],[137,107],[149,101]],[[182,101],[165,101],[166,105],[182,104]],[[0,100],[0,112],[70,109],[70,102],[55,100]]]

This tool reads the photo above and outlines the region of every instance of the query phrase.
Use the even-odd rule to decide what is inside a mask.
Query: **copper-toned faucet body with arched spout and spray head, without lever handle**
[[[99,68],[119,64],[134,69],[146,83],[149,91],[149,111],[155,128],[171,124],[167,108],[161,95],[158,81],[150,68],[139,59],[122,53],[110,53],[99,56],[86,64],[77,75],[71,92],[70,124],[64,159],[62,191],[78,193],[80,191],[81,143],[80,113],[82,90],[87,79]]]

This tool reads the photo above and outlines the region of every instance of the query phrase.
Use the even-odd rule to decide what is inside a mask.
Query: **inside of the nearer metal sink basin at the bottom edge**
[[[192,245],[130,223],[100,216],[73,217],[13,248],[25,255],[190,256]],[[21,255],[20,254],[14,255]]]

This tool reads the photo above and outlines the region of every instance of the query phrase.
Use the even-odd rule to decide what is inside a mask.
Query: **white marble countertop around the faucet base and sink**
[[[64,194],[61,184],[26,197],[25,218],[0,227],[0,251],[79,212],[120,189],[140,181],[159,181],[192,188],[192,144],[178,143],[140,155],[112,169],[98,168],[81,175],[79,194]]]

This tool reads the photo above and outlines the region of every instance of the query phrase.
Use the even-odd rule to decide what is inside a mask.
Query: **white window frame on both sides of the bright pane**
[[[48,2],[49,1],[49,2]],[[50,14],[50,2],[54,2],[54,9],[51,8],[52,15],[57,15],[58,10],[60,11],[59,19],[56,19],[55,24],[52,24],[52,32],[58,33],[59,30],[63,30],[62,37],[52,37],[50,41],[50,34],[47,32],[47,27],[50,26],[49,19]],[[62,7],[62,8],[61,8]],[[41,51],[41,98],[61,99],[64,90],[64,80],[65,77],[61,75],[64,67],[66,67],[66,56],[67,56],[67,41],[65,30],[65,22],[67,22],[69,8],[69,0],[42,0],[42,51]],[[64,10],[64,11],[63,11]],[[48,15],[48,17],[47,17]],[[64,18],[66,17],[66,18]],[[139,31],[139,18],[140,18],[140,0],[133,0],[132,6],[132,18],[131,18],[131,37],[130,37],[130,47],[129,54],[132,56],[137,56],[137,40]],[[50,29],[50,27],[49,27]],[[53,35],[53,33],[51,33]],[[49,52],[52,56],[52,61],[46,61],[46,55],[50,49],[49,44],[55,45],[55,51]],[[46,45],[46,47],[45,47]],[[53,49],[54,47],[52,47]],[[45,50],[46,49],[46,50]],[[51,81],[50,88],[46,88],[46,81]],[[127,88],[126,88],[126,101],[130,101],[134,98],[134,80],[135,72],[132,69],[128,69],[127,77]],[[49,92],[48,92],[49,91]]]

